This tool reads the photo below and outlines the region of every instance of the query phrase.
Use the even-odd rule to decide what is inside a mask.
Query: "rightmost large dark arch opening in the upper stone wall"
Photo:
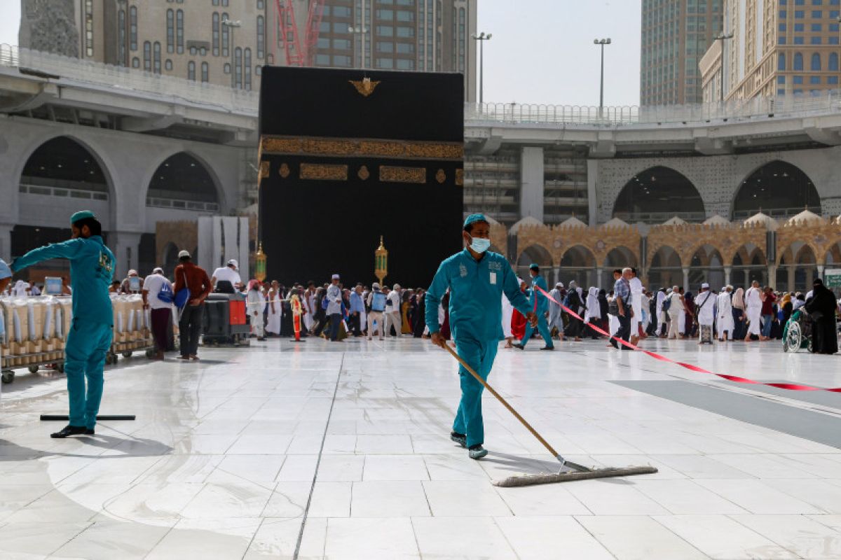
[[[771,160],[756,167],[739,184],[731,216],[745,219],[761,210],[779,218],[795,215],[804,207],[821,214],[821,196],[812,179],[797,165]]]

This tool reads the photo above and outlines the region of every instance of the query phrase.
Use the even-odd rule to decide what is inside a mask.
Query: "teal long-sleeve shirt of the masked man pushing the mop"
[[[430,332],[441,329],[438,306],[447,288],[450,289],[450,330],[456,339],[470,338],[485,343],[503,338],[503,292],[523,315],[532,311],[505,257],[488,251],[477,261],[464,249],[442,262],[426,292],[426,325]]]

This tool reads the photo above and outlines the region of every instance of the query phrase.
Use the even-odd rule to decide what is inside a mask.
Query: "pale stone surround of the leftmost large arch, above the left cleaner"
[[[28,171],[27,166],[34,157],[38,156],[41,149],[50,149],[52,144],[64,142],[70,143],[65,144],[66,146],[75,146],[78,149],[83,150],[83,152],[87,153],[87,155],[90,156],[92,161],[95,162],[98,167],[99,172],[102,174],[103,184],[107,187],[106,191],[103,192],[106,192],[108,195],[107,205],[104,205],[107,207],[107,215],[98,215],[98,218],[99,221],[102,222],[103,229],[105,231],[114,229],[115,222],[117,220],[116,209],[118,207],[117,191],[114,185],[114,166],[108,158],[108,152],[106,149],[103,149],[102,146],[98,146],[96,142],[83,138],[80,134],[55,133],[54,131],[50,131],[40,135],[37,139],[34,139],[24,150],[19,160],[18,168],[14,170],[13,176],[16,177],[18,181],[16,186],[20,186],[21,182],[24,180],[24,172]],[[61,148],[61,144],[57,145]],[[55,154],[51,155],[55,158]],[[15,191],[15,194],[17,195],[17,191],[19,191],[19,189],[16,188]],[[16,196],[16,198],[19,201],[19,196]],[[79,199],[80,204],[82,203],[82,200],[83,199]],[[17,212],[18,215],[20,215],[20,210],[21,208],[19,207]]]

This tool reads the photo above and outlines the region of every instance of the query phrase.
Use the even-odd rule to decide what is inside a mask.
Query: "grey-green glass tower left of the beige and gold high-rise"
[[[701,102],[698,63],[722,30],[723,1],[643,0],[641,105]]]

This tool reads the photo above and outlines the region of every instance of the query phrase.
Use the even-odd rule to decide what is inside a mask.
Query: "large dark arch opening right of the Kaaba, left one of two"
[[[674,212],[679,207],[680,212]],[[704,201],[692,181],[680,171],[654,165],[627,181],[613,203],[613,217],[626,222],[662,223],[679,216],[687,221],[706,217]]]

